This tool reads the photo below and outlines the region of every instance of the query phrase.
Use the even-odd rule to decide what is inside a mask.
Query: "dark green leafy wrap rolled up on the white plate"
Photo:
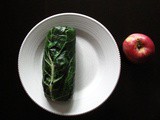
[[[66,101],[72,97],[75,43],[76,31],[68,26],[53,27],[45,38],[42,85],[45,96],[53,101]]]

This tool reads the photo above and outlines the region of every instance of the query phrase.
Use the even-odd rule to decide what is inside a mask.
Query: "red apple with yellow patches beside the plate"
[[[147,35],[134,33],[124,40],[123,52],[131,62],[143,63],[155,53],[155,45]]]

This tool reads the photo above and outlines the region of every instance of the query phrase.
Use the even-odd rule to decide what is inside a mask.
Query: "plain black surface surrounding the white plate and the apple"
[[[1,2],[0,119],[160,120],[160,0],[15,0]],[[37,106],[25,93],[17,59],[30,29],[51,15],[77,12],[101,22],[114,36],[121,54],[119,82],[109,99],[80,116],[64,117]],[[122,42],[131,33],[144,33],[155,43],[154,59],[130,63]]]

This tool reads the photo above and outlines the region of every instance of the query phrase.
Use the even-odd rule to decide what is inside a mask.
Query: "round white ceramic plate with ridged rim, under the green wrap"
[[[49,102],[42,88],[44,37],[53,26],[77,30],[76,75],[73,98]],[[25,37],[19,52],[21,83],[43,109],[59,115],[79,115],[101,105],[113,92],[120,74],[120,54],[110,32],[98,21],[77,13],[61,13],[38,23]]]

